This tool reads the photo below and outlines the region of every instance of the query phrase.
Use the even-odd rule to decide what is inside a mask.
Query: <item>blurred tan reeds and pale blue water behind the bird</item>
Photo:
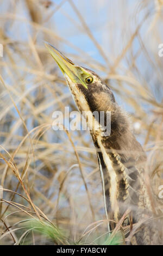
[[[89,131],[52,129],[54,111],[77,108],[43,40],[97,72],[129,113],[162,214],[163,1],[1,0],[0,7],[0,243],[107,243]]]

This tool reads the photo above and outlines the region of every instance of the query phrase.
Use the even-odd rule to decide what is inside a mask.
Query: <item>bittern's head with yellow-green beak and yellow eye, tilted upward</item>
[[[80,112],[111,110],[114,95],[95,72],[74,64],[51,44],[45,45],[64,74]]]

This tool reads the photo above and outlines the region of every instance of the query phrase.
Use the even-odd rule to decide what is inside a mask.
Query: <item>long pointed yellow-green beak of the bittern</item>
[[[62,73],[67,75],[72,82],[81,83],[78,77],[78,69],[77,66],[67,57],[64,56],[60,51],[58,51],[53,45],[45,42],[45,46],[48,49],[49,53],[51,53],[55,62],[57,62],[59,68]]]

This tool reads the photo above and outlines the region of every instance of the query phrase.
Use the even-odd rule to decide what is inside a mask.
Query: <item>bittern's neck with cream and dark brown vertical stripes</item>
[[[133,207],[139,204],[137,190],[142,186],[139,176],[145,153],[130,131],[126,114],[119,109],[111,114],[110,136],[98,132],[91,135],[101,171],[106,217],[117,221],[131,202]]]

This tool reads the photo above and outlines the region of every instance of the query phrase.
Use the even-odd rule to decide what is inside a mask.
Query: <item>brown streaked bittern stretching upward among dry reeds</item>
[[[129,217],[127,224],[143,220],[153,210],[144,180],[146,154],[131,131],[128,115],[117,105],[111,89],[95,72],[74,64],[51,44],[46,43],[46,47],[64,74],[79,111],[92,113],[91,120],[95,123],[99,120],[93,112],[103,112],[104,118],[106,113],[111,113],[109,135],[103,136],[101,124],[99,129],[95,126],[90,129],[97,149],[107,220],[120,220],[129,208],[133,219],[131,221]],[[89,125],[89,117],[86,121]],[[133,243],[158,243],[154,241],[153,230],[147,224],[143,225]]]

